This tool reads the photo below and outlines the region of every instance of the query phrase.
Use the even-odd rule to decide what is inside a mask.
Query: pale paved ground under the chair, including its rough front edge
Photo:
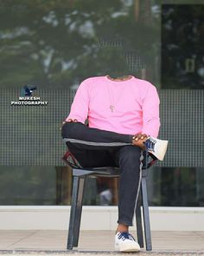
[[[66,250],[66,231],[0,231],[0,254],[6,255],[121,255],[114,252],[114,232],[84,231],[72,252]],[[204,255],[204,232],[152,232],[153,251],[143,255]],[[125,253],[122,253],[125,254]],[[136,254],[136,253],[129,253]]]

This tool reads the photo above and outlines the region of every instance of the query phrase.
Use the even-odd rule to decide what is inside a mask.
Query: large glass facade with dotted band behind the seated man
[[[82,80],[125,69],[159,89],[161,137],[172,144],[150,170],[150,206],[203,206],[202,3],[0,0],[0,205],[70,204],[61,121]],[[48,106],[10,106],[24,84],[36,86]],[[180,148],[179,140],[187,142]],[[86,205],[118,204],[118,179],[87,182]]]

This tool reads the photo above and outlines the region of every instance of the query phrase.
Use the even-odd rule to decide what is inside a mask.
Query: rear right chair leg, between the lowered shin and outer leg
[[[141,187],[137,200],[136,207],[136,223],[137,223],[137,240],[141,248],[143,248],[143,225],[142,225],[142,216],[141,216]]]

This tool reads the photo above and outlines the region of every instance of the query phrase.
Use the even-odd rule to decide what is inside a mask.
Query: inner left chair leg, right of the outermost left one
[[[78,189],[78,197],[77,197],[77,208],[75,215],[75,226],[73,233],[73,246],[78,246],[79,236],[80,236],[80,220],[81,220],[81,212],[83,206],[83,198],[84,198],[84,187],[86,182],[86,176],[80,176],[79,189]]]

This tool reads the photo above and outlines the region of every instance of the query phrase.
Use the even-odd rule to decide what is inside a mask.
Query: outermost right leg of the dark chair
[[[149,206],[148,206],[148,195],[147,195],[147,183],[146,177],[142,178],[142,200],[143,200],[143,224],[144,224],[144,234],[146,242],[146,250],[151,251],[151,233],[150,233],[150,215],[149,215]]]

